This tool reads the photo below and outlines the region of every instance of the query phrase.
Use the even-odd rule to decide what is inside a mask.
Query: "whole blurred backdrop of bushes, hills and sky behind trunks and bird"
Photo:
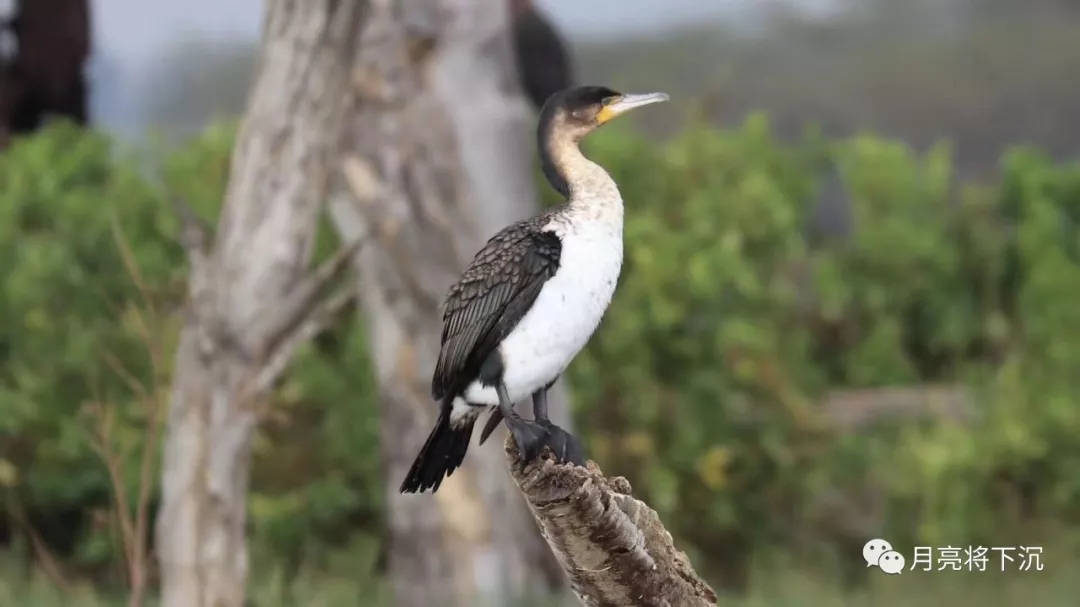
[[[1080,4],[535,4],[577,81],[673,98],[590,143],[626,267],[568,385],[590,455],[720,604],[1074,605]],[[261,5],[0,0],[22,14],[0,35],[0,605],[124,602],[113,495],[138,493],[168,390],[146,352],[172,355],[185,293],[161,192],[220,201]],[[361,324],[302,350],[259,430],[254,605],[386,596]],[[1044,569],[887,578],[874,537],[1042,547]]]

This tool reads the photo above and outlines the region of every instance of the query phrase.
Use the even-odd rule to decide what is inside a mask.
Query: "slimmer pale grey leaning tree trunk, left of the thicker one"
[[[212,245],[185,215],[190,300],[157,527],[163,607],[244,603],[245,498],[258,410],[293,350],[329,313],[319,299],[336,271],[348,268],[349,255],[340,255],[307,272],[352,109],[349,75],[363,16],[362,2],[268,2]]]

